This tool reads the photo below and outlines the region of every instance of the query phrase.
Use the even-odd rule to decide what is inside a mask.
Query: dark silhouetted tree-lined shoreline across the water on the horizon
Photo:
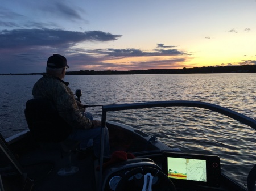
[[[208,66],[193,67],[183,69],[149,69],[149,70],[80,70],[67,71],[66,75],[118,75],[118,74],[208,74],[208,73],[256,73],[256,65],[243,66]],[[0,75],[42,75],[43,73],[20,73],[20,74],[0,74]]]

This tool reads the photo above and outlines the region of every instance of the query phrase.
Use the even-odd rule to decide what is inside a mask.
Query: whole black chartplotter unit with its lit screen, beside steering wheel
[[[218,156],[163,152],[162,169],[176,185],[220,186]]]

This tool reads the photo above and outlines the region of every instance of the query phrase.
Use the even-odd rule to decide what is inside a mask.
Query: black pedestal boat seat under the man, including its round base
[[[28,100],[24,113],[28,128],[35,141],[44,149],[57,148],[60,150],[61,156],[66,163],[58,174],[66,176],[76,173],[79,169],[71,165],[71,151],[80,142],[67,139],[72,128],[59,116],[51,101],[45,98]]]

